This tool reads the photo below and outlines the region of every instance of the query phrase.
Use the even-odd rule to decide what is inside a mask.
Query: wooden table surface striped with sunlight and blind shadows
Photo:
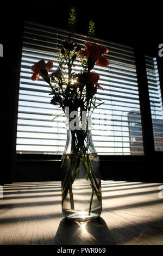
[[[102,181],[101,217],[61,212],[61,182],[3,186],[0,245],[163,245],[163,192],[156,183]]]

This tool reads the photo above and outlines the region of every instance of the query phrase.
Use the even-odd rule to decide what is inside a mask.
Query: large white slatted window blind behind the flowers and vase
[[[24,26],[21,79],[18,100],[17,153],[62,154],[66,141],[62,109],[51,105],[51,90],[40,77],[30,80],[30,67],[40,59],[53,61],[58,67],[58,50],[68,32],[64,29],[26,22]],[[76,33],[74,40],[84,48],[87,37]],[[134,50],[132,47],[96,38],[109,48],[105,57],[109,66],[95,65],[100,75],[99,85],[104,90],[97,97],[104,103],[92,115],[92,135],[98,154],[142,155],[142,128],[137,89]],[[76,63],[74,67],[80,70]],[[100,102],[99,102],[100,103]]]

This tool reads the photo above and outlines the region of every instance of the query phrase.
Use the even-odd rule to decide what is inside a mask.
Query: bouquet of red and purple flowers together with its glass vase
[[[40,76],[50,88],[51,104],[62,108],[66,116],[67,140],[61,160],[62,212],[73,220],[98,217],[102,211],[99,158],[91,135],[91,114],[103,102],[96,96],[99,75],[91,71],[95,64],[107,66],[108,49],[93,42],[95,23],[90,21],[84,51],[74,41],[76,12],[71,8],[70,35],[61,42],[58,69],[48,74],[53,62],[40,60],[32,66],[32,80]],[[76,64],[76,65],[75,65]],[[80,70],[76,71],[76,66]],[[58,115],[57,115],[58,117]],[[55,117],[56,118],[56,117]]]

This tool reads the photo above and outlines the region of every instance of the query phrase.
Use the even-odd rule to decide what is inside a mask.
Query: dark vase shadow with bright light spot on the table
[[[82,222],[62,219],[55,242],[57,245],[116,245],[101,217]]]

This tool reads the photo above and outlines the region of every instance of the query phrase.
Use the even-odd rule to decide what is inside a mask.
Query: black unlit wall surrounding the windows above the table
[[[18,84],[21,65],[21,49],[24,20],[45,23],[67,29],[71,6],[77,10],[77,32],[87,33],[90,20],[96,23],[96,36],[140,48],[141,52],[158,57],[161,38],[161,8],[157,4],[148,6],[137,2],[91,3],[85,1],[14,1],[4,6],[1,16],[1,41],[4,57],[1,58],[1,121],[2,161],[0,184],[12,181],[59,179],[60,162],[16,160],[16,120]],[[158,57],[159,58],[159,57]],[[162,63],[162,59],[159,59]],[[161,65],[160,65],[161,66]],[[161,68],[160,68],[160,76]],[[162,78],[161,78],[162,79]],[[133,159],[108,157],[101,161],[102,177],[105,179],[160,180],[162,154],[151,158]],[[109,160],[109,163],[108,163]],[[54,167],[55,166],[55,167]],[[152,166],[152,168],[151,168]],[[41,169],[40,169],[41,168]],[[48,169],[48,172],[44,170]],[[155,169],[153,173],[152,169]],[[55,174],[55,175],[54,175]]]

